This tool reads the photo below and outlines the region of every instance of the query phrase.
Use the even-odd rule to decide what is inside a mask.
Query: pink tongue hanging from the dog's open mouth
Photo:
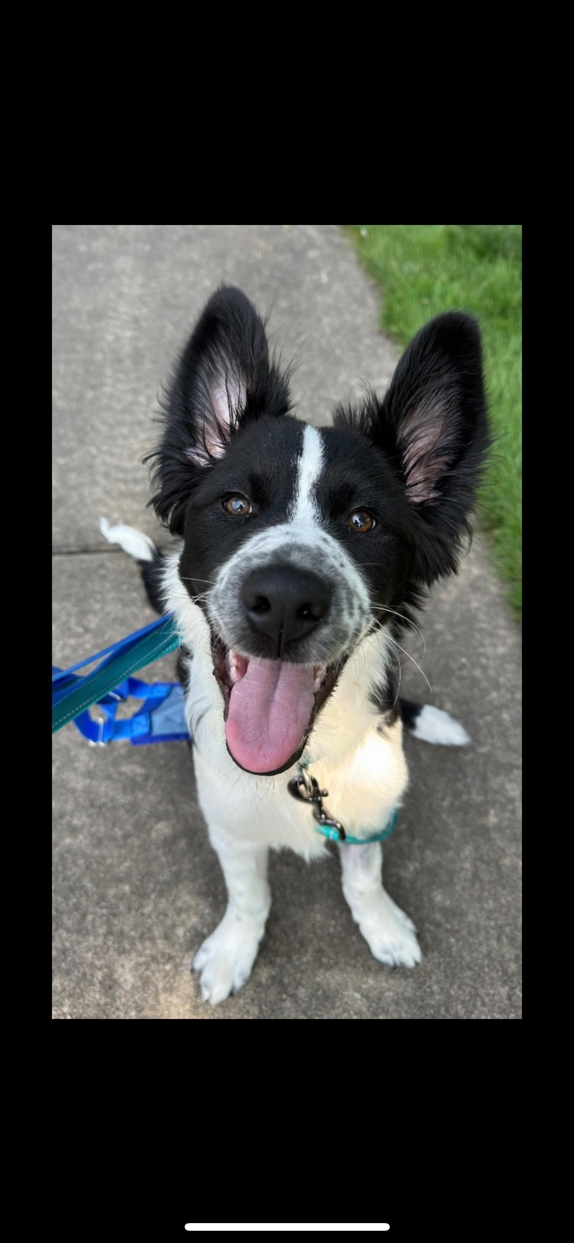
[[[231,755],[252,773],[282,768],[301,747],[313,705],[313,665],[251,659],[231,687],[225,723]]]

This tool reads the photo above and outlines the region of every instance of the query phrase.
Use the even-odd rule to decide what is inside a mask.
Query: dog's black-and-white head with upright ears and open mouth
[[[257,773],[301,756],[370,629],[456,571],[488,440],[478,328],[434,319],[384,400],[330,428],[291,406],[257,312],[221,288],[166,394],[152,503],[210,623],[227,750]]]

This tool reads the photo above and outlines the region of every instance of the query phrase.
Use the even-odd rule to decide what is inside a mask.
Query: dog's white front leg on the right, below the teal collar
[[[339,853],[343,892],[370,952],[391,967],[414,967],[421,960],[416,929],[383,889],[380,842],[365,846],[343,843]]]

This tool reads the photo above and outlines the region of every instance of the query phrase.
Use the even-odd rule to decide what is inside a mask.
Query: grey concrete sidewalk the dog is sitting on
[[[398,352],[378,292],[335,226],[58,225],[53,230],[53,661],[68,665],[154,619],[134,562],[99,534],[122,521],[165,546],[140,465],[157,394],[209,295],[239,285],[285,359],[302,418],[328,421],[359,380],[384,390]],[[424,669],[401,692],[458,717],[472,747],[406,741],[411,786],[385,885],[422,963],[371,958],[335,848],[272,855],[267,932],[251,981],[211,1009],[189,973],[225,910],[185,743],[92,748],[53,738],[55,1018],[519,1018],[519,634],[476,541],[422,615]],[[420,661],[420,639],[408,640]],[[173,659],[143,672],[173,677]]]

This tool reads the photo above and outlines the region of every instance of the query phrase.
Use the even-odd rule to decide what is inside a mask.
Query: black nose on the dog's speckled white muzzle
[[[311,571],[267,566],[245,580],[241,600],[253,629],[271,640],[270,656],[278,658],[326,617],[330,588]]]

